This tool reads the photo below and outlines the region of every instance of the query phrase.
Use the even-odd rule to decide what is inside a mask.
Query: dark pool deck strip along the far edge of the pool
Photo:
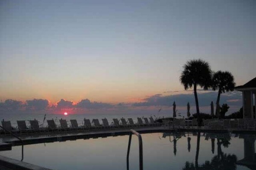
[[[59,132],[43,132],[43,133],[17,133],[16,135],[23,140],[21,142],[17,138],[11,136],[10,134],[0,135],[0,150],[4,147],[10,147],[17,145],[26,144],[38,144],[47,142],[64,142],[67,140],[76,139],[90,139],[108,136],[122,136],[128,135],[130,129],[136,130],[138,133],[157,133],[157,132],[212,132],[212,133],[249,133],[256,134],[256,130],[238,130],[238,129],[228,129],[228,130],[214,130],[206,129],[204,127],[194,127],[194,128],[169,128],[166,126],[148,126],[148,127],[126,127],[126,128],[112,128],[112,129],[98,129],[98,130],[73,130],[73,131],[59,131]]]

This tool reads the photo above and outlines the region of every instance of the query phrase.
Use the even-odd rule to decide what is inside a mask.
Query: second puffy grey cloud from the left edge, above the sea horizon
[[[46,99],[33,99],[33,100],[27,100],[26,101],[26,108],[28,110],[36,110],[41,111],[45,110],[49,105],[48,100]]]

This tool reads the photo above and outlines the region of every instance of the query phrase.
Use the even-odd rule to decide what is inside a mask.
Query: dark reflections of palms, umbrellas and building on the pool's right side
[[[190,152],[191,144],[189,133],[187,133],[187,142],[188,142],[188,151]],[[192,133],[195,136],[195,133]],[[217,155],[213,156],[211,161],[205,161],[204,164],[198,165],[198,157],[200,150],[200,138],[205,136],[204,140],[211,139],[212,154],[215,151],[215,139],[217,140]],[[186,137],[185,133],[163,133],[163,138],[169,136],[169,141],[173,142],[174,155],[176,156],[177,152],[177,140],[182,136]],[[171,136],[173,139],[171,140]],[[231,140],[231,134],[229,133],[197,133],[197,143],[196,143],[196,154],[195,154],[195,163],[186,161],[185,166],[182,170],[236,170],[237,164],[244,165],[251,170],[256,170],[256,153],[255,153],[255,140],[256,135],[251,134],[235,134],[234,138],[239,137],[239,139],[244,140],[244,158],[237,160],[235,154],[224,153],[221,149],[221,145],[225,148],[228,148]],[[241,146],[240,146],[241,147]]]

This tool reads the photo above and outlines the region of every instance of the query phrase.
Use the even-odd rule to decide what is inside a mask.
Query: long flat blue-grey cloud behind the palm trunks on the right
[[[207,93],[198,93],[198,100],[200,106],[208,106],[211,101],[215,102],[218,93],[215,91]],[[228,105],[242,105],[240,92],[229,92],[221,94],[220,103],[227,103]],[[190,105],[195,105],[194,94],[175,94],[169,96],[154,95],[144,99],[145,102],[133,103],[133,106],[172,106],[175,101],[176,105],[186,106],[187,102]]]

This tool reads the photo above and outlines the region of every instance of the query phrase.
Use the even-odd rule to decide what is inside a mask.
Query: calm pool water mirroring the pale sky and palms
[[[23,161],[53,170],[125,170],[129,136],[31,144]],[[147,133],[143,139],[144,170],[250,170],[255,167],[255,135],[218,133]],[[1,151],[21,159],[21,146]],[[254,157],[253,157],[254,156]],[[246,160],[250,169],[238,165]],[[132,136],[130,170],[139,170],[137,136]]]

